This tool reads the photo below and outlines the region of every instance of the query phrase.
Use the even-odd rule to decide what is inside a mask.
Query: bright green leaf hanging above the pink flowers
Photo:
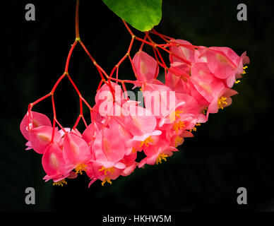
[[[148,31],[160,23],[162,0],[102,0],[133,28]]]

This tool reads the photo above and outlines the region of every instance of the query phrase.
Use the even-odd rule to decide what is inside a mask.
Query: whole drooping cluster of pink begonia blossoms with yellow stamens
[[[239,57],[228,47],[193,46],[174,39],[166,47],[168,68],[162,66],[159,52],[151,57],[140,50],[132,59],[134,88],[140,87],[145,107],[129,99],[124,82],[109,76],[97,90],[91,123],[83,133],[75,126],[59,129],[44,114],[28,110],[20,131],[28,140],[26,150],[42,155],[46,182],[63,186],[65,179],[85,172],[90,184],[112,184],[136,167],[157,165],[178,151],[210,113],[232,103],[237,94],[232,86],[249,64],[245,52]],[[165,68],[165,83],[157,79],[159,65]],[[137,162],[140,152],[145,157]]]

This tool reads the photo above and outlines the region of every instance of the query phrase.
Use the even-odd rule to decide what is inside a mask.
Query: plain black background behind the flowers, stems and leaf
[[[163,0],[159,32],[196,45],[231,47],[237,54],[247,51],[251,64],[234,86],[239,95],[233,97],[232,106],[210,115],[195,137],[187,138],[179,153],[161,165],[136,169],[103,187],[95,182],[88,189],[84,175],[64,187],[44,183],[41,155],[24,150],[19,125],[28,103],[49,93],[64,72],[75,38],[75,2],[1,3],[0,210],[274,210],[274,20],[272,8],[263,1]],[[35,4],[35,21],[25,20],[28,3]],[[247,21],[237,20],[240,3],[247,5]],[[109,73],[126,53],[131,36],[102,1],[82,0],[80,7],[81,39]],[[136,42],[133,50],[139,45]],[[79,46],[69,72],[93,105],[100,76]],[[119,72],[121,78],[133,79],[128,61]],[[73,126],[78,97],[66,78],[55,98],[57,118],[64,126]],[[50,100],[33,110],[52,117]],[[36,204],[28,206],[29,186],[35,188]],[[237,204],[241,186],[248,197],[242,206]]]

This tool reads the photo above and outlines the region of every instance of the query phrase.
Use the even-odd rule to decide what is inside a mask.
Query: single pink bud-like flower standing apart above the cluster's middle
[[[148,83],[155,81],[159,73],[159,65],[153,57],[150,57],[150,55],[143,51],[139,51],[134,55],[132,61],[136,69],[138,81]]]

